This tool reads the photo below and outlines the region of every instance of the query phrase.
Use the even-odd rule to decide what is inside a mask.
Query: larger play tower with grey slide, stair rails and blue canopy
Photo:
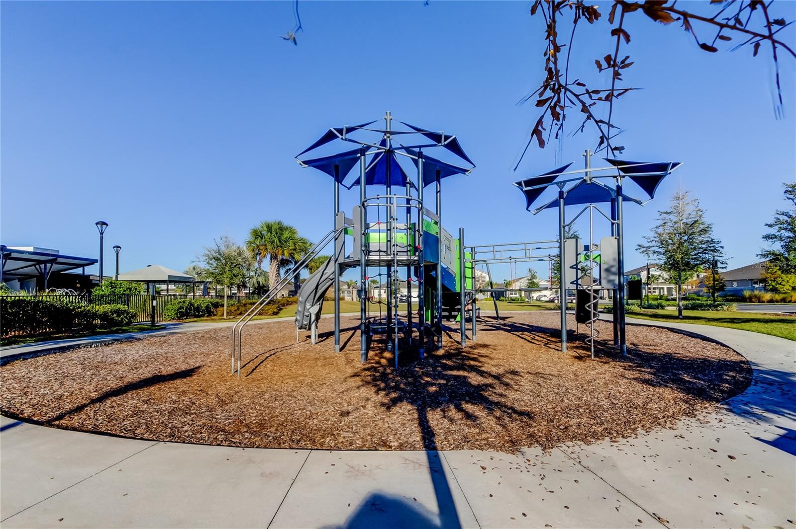
[[[302,167],[316,168],[334,179],[334,229],[310,249],[280,284],[271,287],[274,294],[259,299],[232,327],[232,371],[237,370],[239,376],[244,326],[275,292],[290,284],[333,241],[332,257],[310,274],[298,292],[297,336],[298,330],[310,330],[313,342],[317,339],[323,299],[332,288],[334,349],[340,350],[340,276],[355,267],[360,272],[361,361],[367,360],[369,346],[377,337],[384,337],[397,366],[402,349],[416,349],[423,357],[429,347],[442,346],[443,318],[460,320],[463,329],[465,309],[470,297],[474,299],[472,265],[464,247],[463,230],[455,237],[443,227],[441,181],[448,176],[469,174],[474,164],[454,135],[405,122],[400,122],[404,127],[396,129],[393,119],[387,112],[383,128],[373,127],[377,120],[333,127],[296,157]],[[306,153],[333,141],[353,143],[356,148],[302,160]],[[452,153],[467,167],[423,152],[432,148]],[[399,158],[404,165],[409,162],[415,166],[415,171],[410,172],[416,178],[408,174]],[[357,165],[358,177],[348,183],[347,176]],[[424,202],[425,188],[431,185],[435,190],[429,201],[435,204],[433,209]],[[359,190],[359,201],[350,217],[340,209],[341,187]],[[373,187],[383,187],[384,192],[373,194]],[[400,288],[401,276],[406,292]],[[379,291],[386,290],[384,300],[381,295],[369,295],[371,280],[376,280]]]

